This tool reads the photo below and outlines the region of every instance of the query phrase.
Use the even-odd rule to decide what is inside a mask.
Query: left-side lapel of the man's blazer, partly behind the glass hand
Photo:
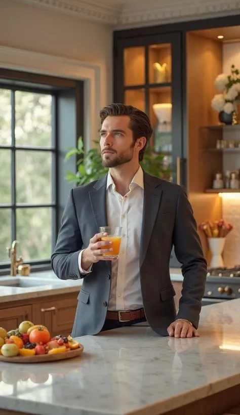
[[[90,203],[96,223],[96,233],[101,226],[107,226],[107,202],[106,202],[107,175],[102,177],[94,185],[95,190],[89,192]],[[111,272],[111,261],[106,261]]]

